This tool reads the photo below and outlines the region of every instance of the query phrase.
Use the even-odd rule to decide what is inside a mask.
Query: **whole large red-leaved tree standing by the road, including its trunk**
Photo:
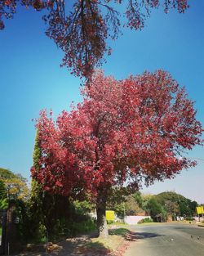
[[[56,121],[42,111],[41,168],[32,175],[51,193],[90,193],[100,236],[108,236],[111,188],[137,189],[143,180],[162,181],[196,164],[183,153],[202,144],[202,126],[184,88],[162,70],[122,81],[97,71],[82,95],[82,103]]]

